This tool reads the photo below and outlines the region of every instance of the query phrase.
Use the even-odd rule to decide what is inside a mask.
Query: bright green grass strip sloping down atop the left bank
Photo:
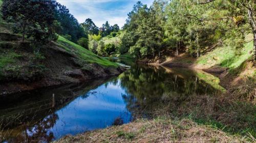
[[[92,53],[91,51],[59,36],[57,43],[60,47],[65,49],[68,52],[72,52],[80,56],[81,60],[84,60],[88,63],[96,63],[103,67],[114,67],[117,68],[118,64],[110,62],[100,56]]]

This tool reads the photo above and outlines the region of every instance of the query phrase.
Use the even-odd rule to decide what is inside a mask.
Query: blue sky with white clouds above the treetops
[[[118,24],[120,27],[125,23],[127,13],[132,11],[133,5],[138,0],[57,0],[62,5],[67,6],[70,13],[82,23],[87,18],[91,18],[97,26],[101,26],[105,21],[111,25]],[[141,0],[149,7],[154,0]]]

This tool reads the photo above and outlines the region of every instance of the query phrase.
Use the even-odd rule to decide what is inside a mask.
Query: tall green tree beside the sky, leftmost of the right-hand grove
[[[166,1],[155,1],[150,8],[138,2],[128,14],[124,26],[126,33],[121,43],[130,46],[130,53],[137,58],[160,57],[164,39],[164,9]],[[129,38],[131,37],[131,38]],[[121,46],[122,48],[122,46]]]

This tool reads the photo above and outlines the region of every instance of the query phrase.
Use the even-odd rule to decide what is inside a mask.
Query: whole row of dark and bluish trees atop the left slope
[[[14,33],[33,39],[35,45],[43,45],[57,39],[59,35],[69,35],[71,41],[88,39],[77,19],[69,10],[53,0],[4,0],[2,9],[4,20],[13,23]]]

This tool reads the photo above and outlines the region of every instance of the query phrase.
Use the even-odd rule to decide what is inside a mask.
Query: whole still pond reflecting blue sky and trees
[[[50,142],[129,123],[141,108],[148,118],[163,99],[175,104],[221,91],[219,79],[203,71],[133,65],[111,79],[1,97],[0,142]]]

